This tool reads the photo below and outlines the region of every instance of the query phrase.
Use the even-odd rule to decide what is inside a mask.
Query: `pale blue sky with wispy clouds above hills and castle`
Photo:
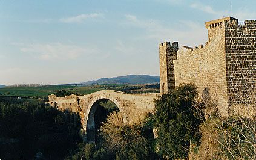
[[[255,0],[0,0],[0,84],[159,75],[158,44],[205,44],[205,22],[256,19]]]

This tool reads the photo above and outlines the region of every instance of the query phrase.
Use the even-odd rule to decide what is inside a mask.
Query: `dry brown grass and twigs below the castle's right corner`
[[[255,90],[248,91],[250,99],[233,103],[230,117],[218,113],[216,101],[204,104],[208,116],[200,125],[201,144],[189,159],[256,159],[256,96]]]

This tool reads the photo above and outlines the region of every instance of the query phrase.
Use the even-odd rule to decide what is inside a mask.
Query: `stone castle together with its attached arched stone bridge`
[[[252,103],[256,82],[256,20],[239,25],[232,17],[205,23],[208,42],[205,46],[183,46],[178,42],[161,43],[160,94],[170,93],[183,82],[197,85],[203,100],[218,100],[218,109],[228,116],[235,105]],[[111,100],[123,115],[123,122],[132,124],[154,110],[159,94],[126,94],[119,91],[97,91],[84,96],[49,96],[49,104],[60,110],[79,113],[82,132],[87,141],[96,136],[96,109],[100,102]],[[255,100],[255,99],[254,99]]]

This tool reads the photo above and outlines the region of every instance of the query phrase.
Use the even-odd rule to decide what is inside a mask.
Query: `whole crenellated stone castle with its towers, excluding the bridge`
[[[182,83],[197,85],[203,100],[218,100],[222,115],[255,102],[256,20],[226,17],[205,23],[208,41],[191,48],[178,42],[159,45],[160,93]]]

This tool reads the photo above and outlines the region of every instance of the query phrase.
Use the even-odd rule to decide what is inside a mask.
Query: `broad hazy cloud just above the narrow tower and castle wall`
[[[126,14],[125,25],[131,25],[146,30],[145,38],[156,39],[159,43],[166,40],[179,41],[180,45],[199,45],[207,40],[204,24],[191,20],[180,20],[175,23],[161,23],[158,20],[137,19],[136,16]],[[205,32],[204,32],[205,31]]]

